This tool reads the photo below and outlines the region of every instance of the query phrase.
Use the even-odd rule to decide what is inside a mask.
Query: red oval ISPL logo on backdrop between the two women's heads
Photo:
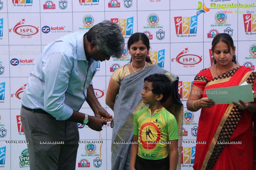
[[[186,54],[188,51],[188,48],[185,48],[182,52],[180,52],[176,57],[176,61],[183,65],[195,65],[202,61],[202,56],[199,57],[198,55],[194,54]]]

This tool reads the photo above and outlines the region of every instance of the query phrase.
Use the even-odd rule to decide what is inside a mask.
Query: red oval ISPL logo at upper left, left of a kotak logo
[[[26,21],[25,18],[21,19],[13,28],[13,31],[21,35],[21,38],[31,38],[32,35],[35,35],[38,33],[38,28],[32,25],[25,25]],[[12,29],[9,29],[9,32],[11,32]],[[24,37],[25,36],[25,37]]]

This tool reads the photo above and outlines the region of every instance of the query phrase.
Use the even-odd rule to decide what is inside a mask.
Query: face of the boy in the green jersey
[[[155,104],[155,102],[157,101],[157,94],[154,94],[152,92],[153,87],[152,87],[152,83],[145,81],[144,82],[144,86],[143,86],[143,90],[141,92],[142,94],[142,99],[143,99],[143,103],[145,104],[149,104],[149,105],[153,105]]]

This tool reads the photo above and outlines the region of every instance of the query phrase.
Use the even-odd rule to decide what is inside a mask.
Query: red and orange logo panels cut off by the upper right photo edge
[[[244,31],[246,35],[252,35],[256,32],[256,14],[243,14]],[[250,33],[248,33],[250,32]]]

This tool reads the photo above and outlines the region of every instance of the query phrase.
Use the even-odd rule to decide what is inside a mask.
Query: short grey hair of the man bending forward
[[[121,27],[109,20],[94,25],[86,34],[87,41],[94,42],[98,50],[108,56],[120,58],[124,50],[124,38]]]

